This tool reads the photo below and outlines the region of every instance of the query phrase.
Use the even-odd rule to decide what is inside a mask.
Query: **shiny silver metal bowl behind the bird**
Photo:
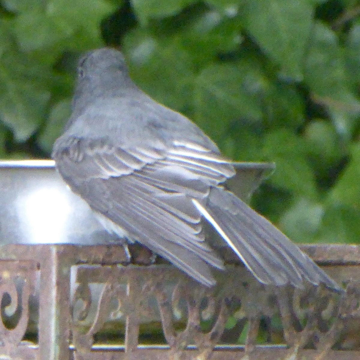
[[[247,198],[271,163],[234,163],[230,189]],[[90,207],[71,192],[52,160],[0,161],[1,244],[95,245],[114,241]]]

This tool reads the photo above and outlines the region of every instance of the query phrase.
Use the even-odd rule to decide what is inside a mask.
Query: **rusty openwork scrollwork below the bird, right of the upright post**
[[[96,271],[99,275],[99,269]],[[90,268],[82,279],[91,281]],[[116,267],[111,276],[108,272],[104,274],[104,280],[93,325],[80,336],[77,321],[74,321],[77,359],[83,359],[82,356],[91,351],[94,333],[111,318],[114,310],[109,304],[113,299],[118,304],[115,311],[126,319],[125,350],[129,359],[138,347],[139,324],[156,314],[170,346],[171,359],[181,359],[189,345],[196,349],[193,350],[195,357],[207,359],[213,348],[223,341],[229,316],[235,316],[242,324],[238,328],[240,333],[247,323],[245,354],[251,354],[256,348],[261,319],[278,316],[283,325],[284,341],[289,346],[289,356],[311,347],[316,349],[317,359],[323,359],[338,342],[346,321],[359,315],[359,287],[348,285],[348,295],[343,297],[321,286],[271,288],[252,280],[243,267],[234,267],[226,282],[219,282],[213,289],[203,287],[166,266]],[[81,284],[78,291],[83,294],[76,295],[76,300],[86,298],[89,301],[91,297],[86,284]],[[84,314],[88,309],[85,305]],[[185,319],[181,330],[175,326],[179,318]],[[207,329],[202,326],[204,321]]]

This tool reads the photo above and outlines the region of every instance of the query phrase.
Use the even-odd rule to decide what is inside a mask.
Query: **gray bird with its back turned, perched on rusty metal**
[[[78,66],[72,114],[53,149],[72,191],[126,243],[139,242],[204,285],[223,260],[203,231],[208,221],[264,284],[324,283],[340,291],[268,220],[221,185],[231,161],[192,121],[143,93],[123,55],[104,48]]]

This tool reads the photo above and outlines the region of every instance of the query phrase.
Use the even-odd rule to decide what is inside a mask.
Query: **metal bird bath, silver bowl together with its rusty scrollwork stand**
[[[231,189],[246,198],[268,170],[242,167]],[[0,193],[0,359],[360,358],[357,246],[303,247],[347,285],[342,297],[265,287],[226,249],[228,271],[208,289],[168,264],[118,266],[122,247],[53,161],[0,162]],[[25,341],[32,323],[37,339]],[[150,324],[161,345],[141,344]],[[98,336],[109,329],[115,342]],[[259,334],[267,344],[256,345]]]

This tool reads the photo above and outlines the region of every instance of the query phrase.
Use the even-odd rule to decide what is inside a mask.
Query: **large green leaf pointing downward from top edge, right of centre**
[[[286,77],[301,80],[303,57],[312,27],[313,8],[306,1],[244,0],[244,27]]]

